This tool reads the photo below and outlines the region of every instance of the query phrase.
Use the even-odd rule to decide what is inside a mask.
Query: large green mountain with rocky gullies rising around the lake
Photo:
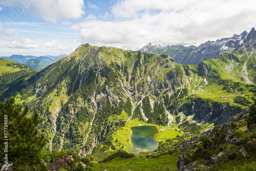
[[[164,142],[241,112],[256,95],[255,57],[253,47],[242,47],[189,66],[164,54],[85,44],[11,92],[45,119],[39,129],[50,149],[100,159],[129,151],[132,126],[156,125]]]

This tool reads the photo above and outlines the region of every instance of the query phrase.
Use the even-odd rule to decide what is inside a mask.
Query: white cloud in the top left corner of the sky
[[[1,3],[11,8],[23,7],[28,11],[31,10],[36,16],[51,22],[80,18],[85,13],[83,0],[3,0]]]

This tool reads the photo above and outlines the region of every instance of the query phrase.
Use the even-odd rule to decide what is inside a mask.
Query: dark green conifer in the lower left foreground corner
[[[15,105],[11,97],[8,103],[0,103],[0,135],[4,135],[4,125],[7,121],[8,135],[1,137],[0,156],[3,160],[8,154],[8,162],[16,165],[33,165],[40,163],[40,152],[46,144],[46,138],[37,130],[37,125],[42,121],[37,112],[29,116],[28,106]],[[8,152],[4,152],[8,139]]]

